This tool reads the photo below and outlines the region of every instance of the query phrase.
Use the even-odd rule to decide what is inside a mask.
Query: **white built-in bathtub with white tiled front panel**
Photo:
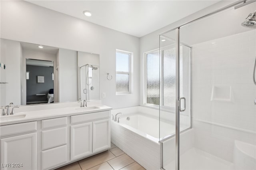
[[[111,111],[113,116],[116,113],[122,113],[122,115],[117,116],[120,117],[119,123],[111,121],[111,141],[144,168],[148,170],[160,169],[161,146],[158,142],[159,136],[161,140],[166,136],[175,134],[175,126],[170,124],[175,119],[162,119],[159,135],[158,109],[138,106]],[[170,113],[168,113],[168,117],[170,117]],[[185,119],[184,122],[186,122]],[[183,130],[186,127],[181,125],[180,129]]]

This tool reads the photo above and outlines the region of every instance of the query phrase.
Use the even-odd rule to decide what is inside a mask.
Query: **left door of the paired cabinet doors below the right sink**
[[[70,126],[71,160],[92,154],[92,123]]]

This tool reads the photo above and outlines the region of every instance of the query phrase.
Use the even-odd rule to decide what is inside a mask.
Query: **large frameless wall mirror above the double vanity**
[[[100,99],[100,56],[1,39],[0,106]]]

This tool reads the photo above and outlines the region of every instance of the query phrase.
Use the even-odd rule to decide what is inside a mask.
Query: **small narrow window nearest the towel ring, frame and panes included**
[[[116,95],[130,93],[131,57],[130,52],[116,50]]]

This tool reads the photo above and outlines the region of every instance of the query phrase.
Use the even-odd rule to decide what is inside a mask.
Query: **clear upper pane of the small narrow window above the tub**
[[[130,55],[116,52],[116,71],[129,72]]]

